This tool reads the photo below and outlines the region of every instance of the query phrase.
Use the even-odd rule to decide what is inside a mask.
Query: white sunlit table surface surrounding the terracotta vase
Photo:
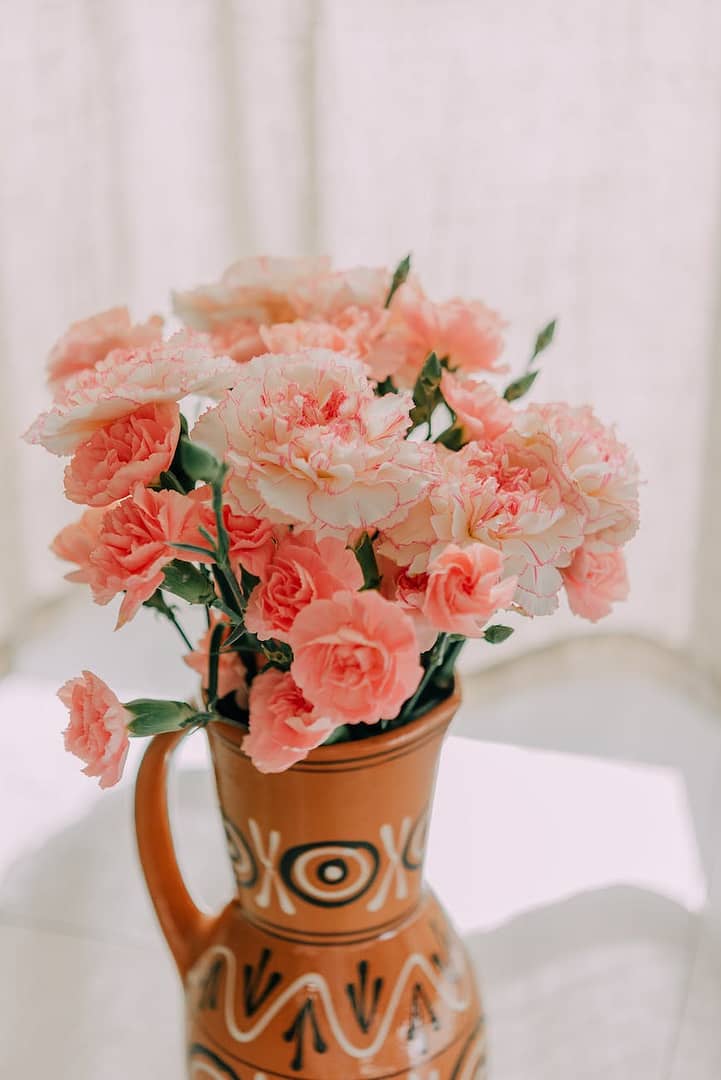
[[[180,1080],[180,993],[132,831],[141,747],[99,792],[62,748],[58,681],[0,681],[0,1077]],[[719,717],[628,674],[491,705],[482,687],[444,751],[427,873],[477,964],[491,1080],[719,1080]],[[176,833],[215,908],[230,874],[189,742]]]

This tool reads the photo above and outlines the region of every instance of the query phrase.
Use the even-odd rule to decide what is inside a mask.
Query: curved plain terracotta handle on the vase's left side
[[[158,920],[185,980],[203,951],[215,919],[201,912],[188,892],[175,855],[167,813],[167,766],[185,731],[155,735],[135,783],[135,831],[140,865]]]

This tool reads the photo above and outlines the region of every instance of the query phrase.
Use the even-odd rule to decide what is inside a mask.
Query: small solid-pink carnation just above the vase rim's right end
[[[431,564],[423,613],[438,630],[480,637],[499,608],[508,607],[516,579],[502,581],[503,556],[482,543],[448,546]]]

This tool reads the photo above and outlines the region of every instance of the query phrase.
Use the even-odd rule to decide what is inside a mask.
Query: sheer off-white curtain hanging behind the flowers
[[[721,8],[712,0],[27,0],[0,43],[0,639],[58,595],[71,511],[17,436],[74,319],[257,253],[482,296],[538,399],[591,402],[647,485],[603,626],[721,677]],[[586,632],[540,620],[529,643]]]

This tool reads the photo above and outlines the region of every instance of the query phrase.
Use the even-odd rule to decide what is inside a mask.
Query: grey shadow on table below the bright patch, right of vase
[[[491,1080],[667,1077],[697,933],[672,901],[617,886],[470,935]]]

